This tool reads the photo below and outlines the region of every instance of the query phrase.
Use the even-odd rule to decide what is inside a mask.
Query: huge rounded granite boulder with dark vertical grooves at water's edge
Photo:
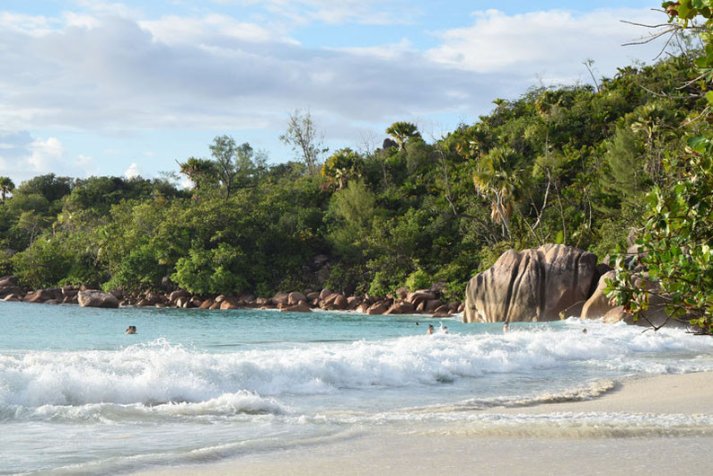
[[[503,253],[471,278],[463,322],[559,320],[559,312],[589,297],[599,276],[596,255],[562,244]]]

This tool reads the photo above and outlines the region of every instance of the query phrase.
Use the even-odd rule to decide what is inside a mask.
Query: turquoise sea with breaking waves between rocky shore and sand
[[[427,336],[428,323],[449,333]],[[326,445],[409,421],[471,421],[495,405],[591,398],[622,375],[713,369],[711,339],[578,320],[503,335],[415,315],[0,303],[0,324],[4,473],[130,472]]]

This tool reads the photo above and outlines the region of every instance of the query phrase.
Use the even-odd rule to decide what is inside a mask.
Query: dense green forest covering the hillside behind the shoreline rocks
[[[647,192],[675,181],[666,158],[706,101],[706,79],[689,82],[694,57],[682,49],[595,87],[536,87],[437,139],[397,122],[383,147],[359,151],[325,153],[295,111],[281,138],[299,160],[268,166],[216,137],[208,158],[178,158],[189,190],[170,178],[1,181],[0,274],[199,295],[442,282],[462,299],[508,248],[561,242],[601,259],[646,225]]]

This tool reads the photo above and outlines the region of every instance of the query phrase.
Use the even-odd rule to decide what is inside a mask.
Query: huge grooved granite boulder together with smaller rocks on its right
[[[636,269],[638,250],[633,247],[630,263]],[[646,272],[638,269],[638,286],[654,289]],[[597,264],[594,253],[561,244],[503,253],[488,270],[471,278],[465,291],[463,322],[538,322],[568,317],[600,319],[604,322],[634,323],[622,306],[604,295],[607,279],[614,271]],[[646,313],[638,324],[658,326],[668,321],[665,304],[651,295]],[[674,322],[671,322],[674,323]]]

